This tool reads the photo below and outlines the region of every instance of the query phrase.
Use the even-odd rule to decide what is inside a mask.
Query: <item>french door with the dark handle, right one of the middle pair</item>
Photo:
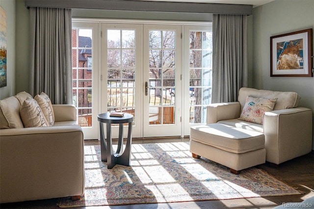
[[[181,136],[181,26],[144,26],[144,137]]]

